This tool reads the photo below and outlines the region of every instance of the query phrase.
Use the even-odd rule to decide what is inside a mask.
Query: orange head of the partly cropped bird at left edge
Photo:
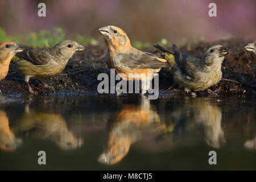
[[[15,42],[5,41],[0,43],[1,58],[13,57],[15,53],[22,52],[24,49]]]

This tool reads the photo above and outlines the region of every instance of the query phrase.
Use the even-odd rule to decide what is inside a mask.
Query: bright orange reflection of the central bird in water
[[[108,122],[108,141],[98,158],[100,163],[116,164],[129,152],[131,144],[141,138],[142,132],[159,123],[159,114],[143,99],[141,105],[124,105]]]

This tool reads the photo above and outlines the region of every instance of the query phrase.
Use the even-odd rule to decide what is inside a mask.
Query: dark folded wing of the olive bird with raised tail
[[[174,48],[175,63],[180,72],[189,80],[197,80],[195,72],[199,69],[200,59],[189,56],[187,53],[177,51]]]

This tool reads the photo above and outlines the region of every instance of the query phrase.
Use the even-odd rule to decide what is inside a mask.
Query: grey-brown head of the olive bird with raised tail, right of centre
[[[224,46],[212,46],[204,53],[204,62],[207,65],[212,65],[213,63],[222,63],[225,55],[229,53],[229,49]]]

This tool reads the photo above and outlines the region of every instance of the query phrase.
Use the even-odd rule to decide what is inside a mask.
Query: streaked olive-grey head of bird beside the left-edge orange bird
[[[51,48],[63,57],[72,57],[76,52],[82,52],[86,48],[72,40],[64,40]]]

